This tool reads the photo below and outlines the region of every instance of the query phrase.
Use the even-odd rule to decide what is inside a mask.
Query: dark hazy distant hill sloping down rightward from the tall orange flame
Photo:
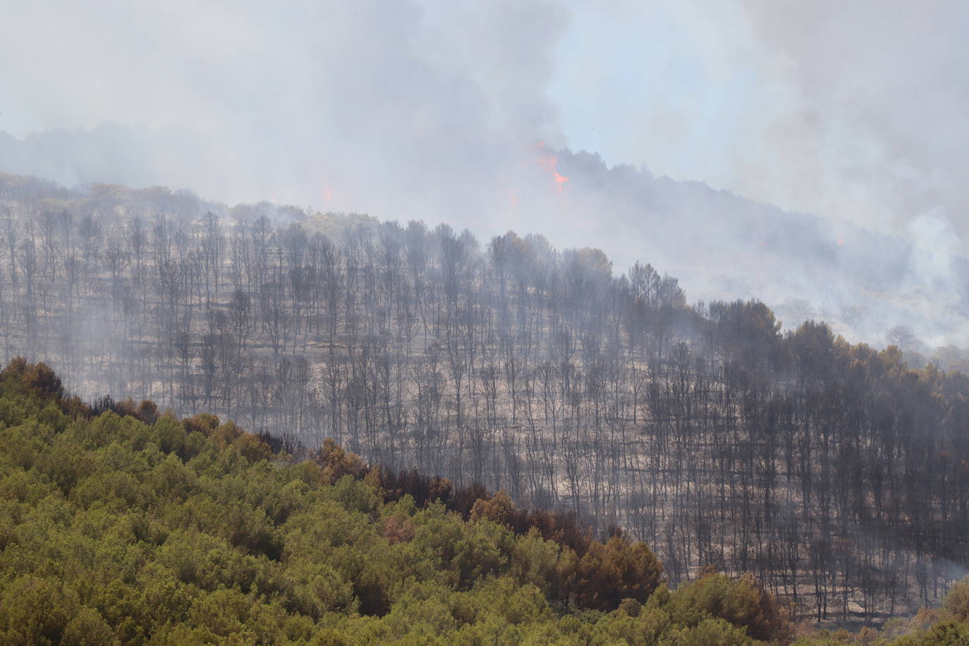
[[[610,168],[587,152],[556,159],[571,217],[607,231],[592,239],[620,266],[648,258],[695,299],[758,298],[792,329],[819,319],[879,344],[904,326],[929,346],[969,346],[969,262],[939,214],[914,218],[906,239]]]

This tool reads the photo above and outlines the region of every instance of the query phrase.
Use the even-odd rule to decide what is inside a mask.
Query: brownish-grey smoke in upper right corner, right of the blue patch
[[[790,97],[766,130],[768,154],[750,160],[752,172],[777,182],[768,200],[884,231],[904,231],[936,206],[966,212],[969,5],[745,0],[742,7]],[[798,178],[792,169],[809,172]],[[956,224],[963,235],[964,220]]]

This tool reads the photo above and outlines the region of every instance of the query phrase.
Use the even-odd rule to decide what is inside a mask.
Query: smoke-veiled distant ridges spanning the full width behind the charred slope
[[[259,181],[244,159],[209,148],[186,159],[184,151],[193,149],[186,133],[112,124],[23,139],[0,133],[0,170],[69,186],[108,181],[253,194]],[[345,201],[343,210],[447,222],[482,237],[508,229],[544,234],[558,247],[599,247],[619,270],[647,258],[679,278],[693,299],[758,298],[789,329],[823,319],[855,342],[887,345],[894,340],[888,332],[903,328],[917,347],[969,347],[969,263],[944,214],[912,214],[903,235],[889,235],[849,224],[851,214],[788,212],[644,167],[609,167],[584,151],[539,143],[468,156],[460,182],[449,176],[422,187],[388,177],[385,187],[348,187],[343,193],[359,203]],[[479,177],[478,157],[497,168]],[[289,172],[297,170],[305,169]],[[300,174],[285,186],[290,200],[319,205],[330,192],[317,185],[323,181]],[[266,177],[266,193],[280,183]]]

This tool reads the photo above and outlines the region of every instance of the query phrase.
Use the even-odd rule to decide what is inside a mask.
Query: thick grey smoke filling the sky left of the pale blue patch
[[[41,2],[7,17],[10,172],[461,219],[495,209],[516,146],[564,142],[544,94],[566,26],[551,3]]]

